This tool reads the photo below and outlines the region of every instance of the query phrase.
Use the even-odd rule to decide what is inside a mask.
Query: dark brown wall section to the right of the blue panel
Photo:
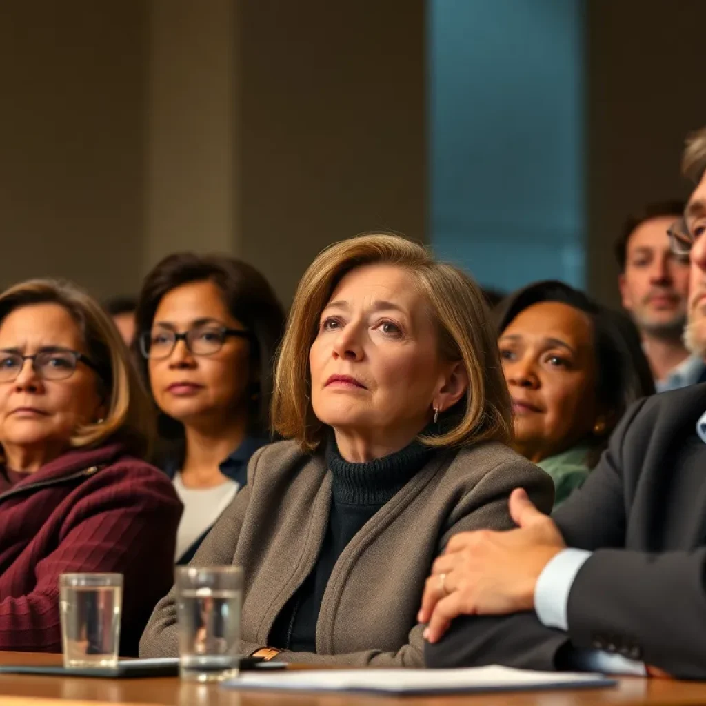
[[[706,124],[703,0],[590,0],[589,286],[618,303],[613,244],[626,215],[684,196],[686,133]]]

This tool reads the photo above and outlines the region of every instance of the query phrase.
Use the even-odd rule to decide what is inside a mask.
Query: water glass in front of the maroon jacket
[[[122,574],[61,574],[61,641],[67,669],[117,666],[122,605]]]

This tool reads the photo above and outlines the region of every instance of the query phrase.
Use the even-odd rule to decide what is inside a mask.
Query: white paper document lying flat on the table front
[[[223,686],[278,691],[348,691],[381,694],[427,694],[530,689],[576,689],[615,686],[600,674],[529,671],[504,666],[469,669],[321,669],[243,672]]]

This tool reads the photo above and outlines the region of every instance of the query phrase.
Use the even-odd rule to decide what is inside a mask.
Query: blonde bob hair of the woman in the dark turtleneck
[[[421,245],[393,234],[364,234],[336,243],[304,273],[275,369],[275,429],[307,452],[323,441],[327,427],[311,406],[309,349],[338,282],[354,268],[373,264],[394,265],[414,275],[436,322],[441,357],[461,361],[468,375],[467,394],[441,415],[444,433],[423,436],[420,441],[438,447],[510,441],[510,395],[496,332],[479,287],[462,270],[437,262]]]

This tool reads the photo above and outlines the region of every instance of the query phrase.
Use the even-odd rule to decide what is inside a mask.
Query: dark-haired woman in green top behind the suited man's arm
[[[515,449],[554,479],[555,508],[578,488],[626,407],[654,393],[634,326],[563,282],[537,282],[498,311]]]

